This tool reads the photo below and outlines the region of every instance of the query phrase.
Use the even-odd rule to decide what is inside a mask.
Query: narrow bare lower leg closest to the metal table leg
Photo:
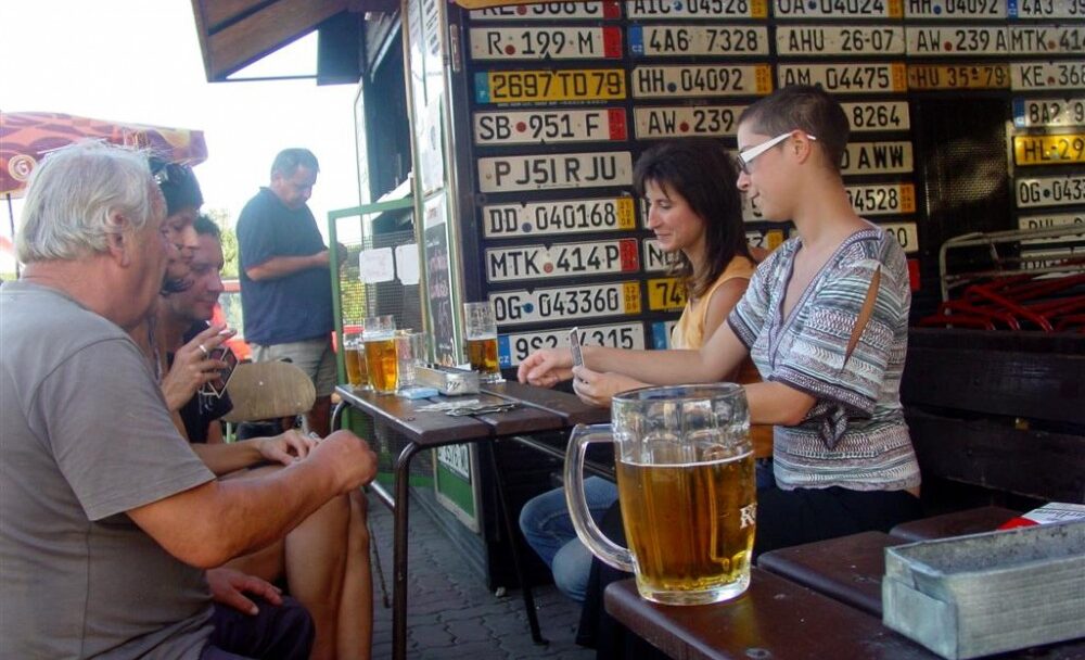
[[[348,497],[350,524],[340,605],[339,657],[341,660],[369,660],[373,644],[373,576],[369,568],[367,502],[361,491],[354,491]]]

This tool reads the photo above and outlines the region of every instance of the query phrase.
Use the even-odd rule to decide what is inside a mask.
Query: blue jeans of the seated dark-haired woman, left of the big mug
[[[617,486],[605,479],[589,477],[584,480],[584,498],[591,518],[599,524],[607,509],[617,502]],[[527,545],[550,567],[558,589],[583,602],[591,551],[576,537],[565,506],[565,491],[554,488],[528,500],[520,511],[520,529]]]

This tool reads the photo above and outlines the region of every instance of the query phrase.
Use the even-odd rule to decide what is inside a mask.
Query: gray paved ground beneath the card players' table
[[[537,587],[542,636],[532,642],[519,591],[496,597],[467,564],[422,507],[411,508],[410,571],[407,610],[407,657],[411,660],[473,658],[475,660],[548,658],[589,660],[595,652],[576,646],[580,608],[552,585]],[[370,497],[369,518],[380,551],[381,568],[392,593],[392,513]],[[373,575],[373,658],[392,657],[392,609],[382,602],[380,579]]]

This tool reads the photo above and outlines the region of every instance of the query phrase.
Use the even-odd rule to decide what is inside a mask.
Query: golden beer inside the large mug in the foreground
[[[756,521],[753,453],[688,465],[617,461],[618,499],[640,593],[711,602],[750,581]],[[651,598],[655,600],[656,598]]]

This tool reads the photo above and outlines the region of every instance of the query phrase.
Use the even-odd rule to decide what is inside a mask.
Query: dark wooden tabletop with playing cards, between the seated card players
[[[583,403],[574,394],[505,382],[486,384],[477,394],[434,396],[409,399],[394,394],[356,391],[340,385],[336,393],[350,406],[390,423],[396,430],[422,445],[441,445],[566,429],[578,423],[601,423],[610,420],[610,410]],[[480,404],[514,402],[515,408],[454,417],[439,410],[422,410],[438,402],[477,399]]]

